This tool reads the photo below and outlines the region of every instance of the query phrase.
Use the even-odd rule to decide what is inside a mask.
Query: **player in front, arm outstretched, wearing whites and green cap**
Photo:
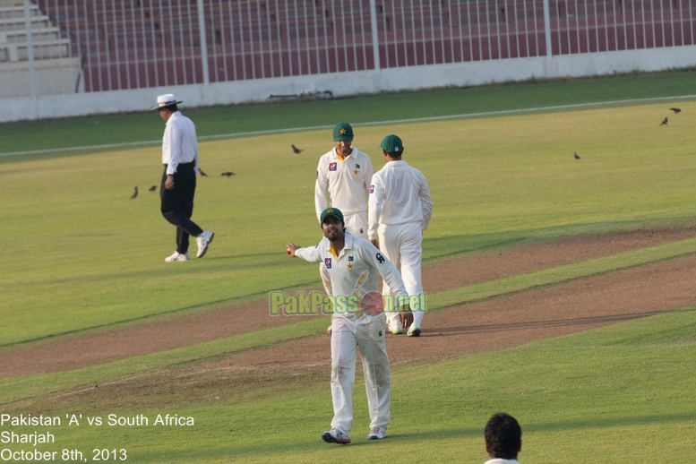
[[[335,300],[331,316],[331,430],[322,434],[327,443],[350,443],[353,426],[353,385],[356,377],[357,348],[363,360],[365,390],[370,412],[369,440],[384,438],[390,420],[391,374],[382,309],[364,311],[361,296],[374,292],[379,296],[377,275],[389,283],[393,293],[403,298],[404,320],[408,313],[408,294],[393,264],[364,238],[345,233],[343,214],[327,208],[320,215],[324,238],[319,245],[300,248],[288,244],[291,256],[307,262],[324,262],[331,277]],[[381,300],[381,298],[380,298]],[[407,322],[408,323],[408,322]]]

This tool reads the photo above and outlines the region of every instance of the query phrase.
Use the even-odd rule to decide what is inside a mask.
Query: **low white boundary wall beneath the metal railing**
[[[291,95],[330,90],[334,96],[376,93],[382,90],[417,90],[446,86],[473,86],[529,78],[581,77],[632,71],[658,71],[696,65],[696,46],[594,53],[553,58],[519,58],[466,64],[435,64],[379,72],[331,73],[242,82],[186,85],[142,90],[117,90],[4,99],[0,122],[100,113],[142,111],[155,105],[157,96],[174,93],[184,107],[266,101],[271,94]]]

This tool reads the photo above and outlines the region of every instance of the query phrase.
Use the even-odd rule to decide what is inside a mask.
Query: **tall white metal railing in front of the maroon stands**
[[[0,98],[696,43],[696,0],[2,1]]]

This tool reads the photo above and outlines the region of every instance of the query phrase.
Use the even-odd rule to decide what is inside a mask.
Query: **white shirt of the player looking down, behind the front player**
[[[319,159],[314,185],[314,206],[319,219],[329,206],[344,215],[367,210],[367,194],[374,170],[365,153],[353,147],[345,159],[340,159],[334,147]],[[331,198],[331,204],[326,194]]]

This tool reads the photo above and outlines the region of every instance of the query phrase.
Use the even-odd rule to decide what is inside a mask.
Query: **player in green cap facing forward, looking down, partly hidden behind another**
[[[367,195],[374,170],[365,153],[353,146],[353,128],[339,123],[333,128],[336,146],[319,159],[314,185],[314,207],[317,219],[328,207],[344,214],[346,231],[351,236],[367,238]],[[331,279],[320,264],[326,295],[331,295]]]

